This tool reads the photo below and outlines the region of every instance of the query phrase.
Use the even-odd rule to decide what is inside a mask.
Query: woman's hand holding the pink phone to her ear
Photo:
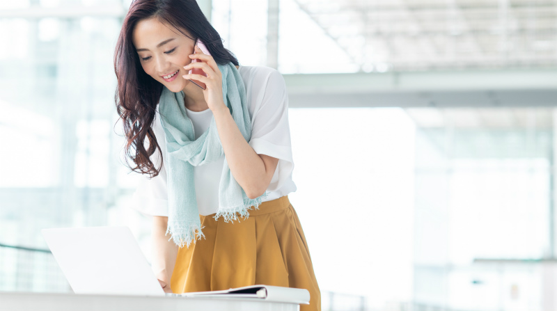
[[[196,54],[189,55],[192,60],[197,58],[201,62],[189,63],[185,65],[185,70],[190,70],[191,68],[201,68],[203,72],[207,74],[207,77],[201,74],[185,74],[182,77],[185,79],[194,79],[205,83],[205,90],[203,90],[203,97],[205,97],[205,102],[209,106],[211,111],[215,112],[219,109],[226,109],[222,96],[222,74],[221,70],[214,61],[213,56],[204,54],[199,47],[195,47]]]

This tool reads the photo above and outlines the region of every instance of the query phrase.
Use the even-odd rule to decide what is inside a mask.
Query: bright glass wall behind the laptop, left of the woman
[[[139,176],[123,166],[113,102],[120,17],[81,16],[107,1],[16,2],[0,5],[21,9],[0,19],[9,43],[0,51],[0,289],[65,292],[40,229],[129,223],[142,241],[147,234],[137,230],[143,218],[123,216]]]

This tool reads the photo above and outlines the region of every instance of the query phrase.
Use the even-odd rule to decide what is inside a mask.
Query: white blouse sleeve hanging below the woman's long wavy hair
[[[158,116],[158,113],[157,113]],[[153,122],[153,131],[162,153],[166,150],[164,143],[164,133],[162,128],[159,127],[158,118]],[[159,150],[155,150],[150,156],[150,159],[155,168],[161,164]],[[149,178],[148,175],[141,175],[136,190],[132,196],[132,208],[141,214],[149,216],[168,216],[168,190],[166,188],[166,169],[164,164],[161,166],[159,175]]]

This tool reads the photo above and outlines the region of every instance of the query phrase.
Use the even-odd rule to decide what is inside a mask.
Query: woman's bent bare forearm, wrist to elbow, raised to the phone
[[[253,150],[242,136],[227,106],[213,111],[213,115],[230,172],[248,198],[258,198],[269,187],[278,159],[257,154]]]

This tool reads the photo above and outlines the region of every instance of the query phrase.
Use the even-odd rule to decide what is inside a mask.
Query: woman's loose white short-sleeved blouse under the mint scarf
[[[262,201],[274,200],[297,190],[292,181],[292,147],[288,125],[288,93],[284,78],[278,70],[265,66],[240,66],[238,68],[244,86],[251,118],[251,139],[249,145],[257,154],[267,154],[278,158],[278,166],[267,188],[268,195]],[[155,113],[152,129],[162,154],[165,154],[166,141],[159,118],[159,105]],[[211,109],[190,111],[188,118],[194,124],[195,138],[201,136],[212,119]],[[224,164],[221,159],[203,166],[194,166],[194,182],[199,214],[207,216],[217,212],[219,207],[219,181]],[[161,164],[159,151],[150,157],[155,168]],[[166,170],[162,166],[159,175],[149,179],[143,175],[133,195],[132,208],[151,216],[168,216],[168,191],[166,189]]]

